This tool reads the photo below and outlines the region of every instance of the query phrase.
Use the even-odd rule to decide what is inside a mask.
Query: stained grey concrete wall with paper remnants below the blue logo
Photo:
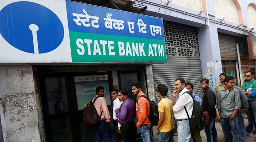
[[[40,142],[32,66],[0,66],[0,113],[5,142]]]

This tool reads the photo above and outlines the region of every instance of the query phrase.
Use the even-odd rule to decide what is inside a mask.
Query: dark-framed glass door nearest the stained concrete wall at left
[[[64,76],[44,77],[42,80],[43,112],[48,142],[73,142],[72,118]]]

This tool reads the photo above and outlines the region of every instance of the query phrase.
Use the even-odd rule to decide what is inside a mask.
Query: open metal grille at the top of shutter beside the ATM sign
[[[167,56],[200,57],[197,29],[167,22],[164,25],[164,33]]]

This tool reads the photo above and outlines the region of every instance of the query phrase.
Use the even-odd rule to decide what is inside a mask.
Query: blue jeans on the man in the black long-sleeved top
[[[204,127],[204,132],[207,138],[207,142],[218,142],[214,117],[209,116],[209,124]]]

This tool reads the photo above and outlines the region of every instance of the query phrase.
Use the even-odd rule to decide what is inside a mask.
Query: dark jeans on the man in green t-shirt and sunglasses
[[[246,111],[248,115],[248,127],[246,127],[246,131],[250,133],[253,131],[254,122],[256,122],[256,101],[250,102]]]

